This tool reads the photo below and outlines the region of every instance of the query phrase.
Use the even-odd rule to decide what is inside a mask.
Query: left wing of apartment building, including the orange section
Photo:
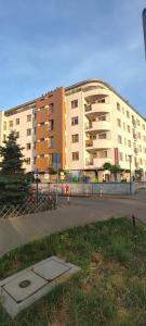
[[[23,148],[25,172],[65,168],[65,89],[0,112],[0,145],[11,130]]]

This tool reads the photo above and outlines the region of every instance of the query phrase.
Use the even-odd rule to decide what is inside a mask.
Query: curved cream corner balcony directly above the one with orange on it
[[[85,131],[106,131],[110,130],[110,122],[109,121],[95,121],[85,125]]]

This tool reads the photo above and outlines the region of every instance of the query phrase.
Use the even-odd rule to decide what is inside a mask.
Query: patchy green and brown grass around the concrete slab
[[[146,228],[111,218],[21,247],[0,261],[0,279],[50,255],[81,272],[21,312],[0,306],[0,326],[145,326]]]

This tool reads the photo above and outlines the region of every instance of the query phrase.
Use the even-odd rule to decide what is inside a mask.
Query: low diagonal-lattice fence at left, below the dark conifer
[[[45,212],[56,209],[56,198],[39,195],[38,201],[27,201],[17,205],[1,205],[0,218],[18,217],[38,212]]]

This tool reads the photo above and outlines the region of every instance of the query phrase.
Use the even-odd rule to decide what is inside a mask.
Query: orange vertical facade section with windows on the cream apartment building
[[[57,162],[56,162],[57,160]],[[58,88],[37,101],[36,167],[65,167],[65,89]]]

